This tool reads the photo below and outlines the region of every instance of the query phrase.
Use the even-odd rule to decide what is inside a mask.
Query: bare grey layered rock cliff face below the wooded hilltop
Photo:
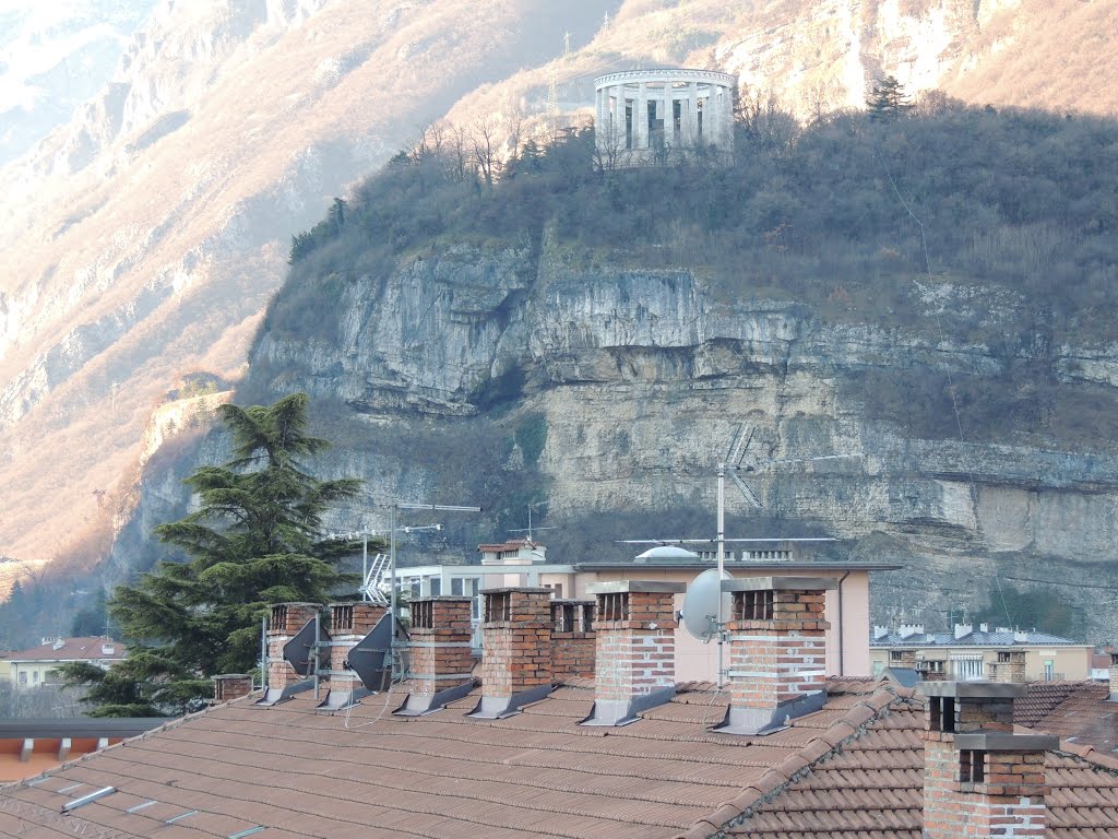
[[[996,331],[1012,310],[1005,294],[929,284],[913,292],[915,321],[977,310]],[[330,470],[366,477],[370,500],[451,491],[515,503],[525,496],[510,488],[538,469],[533,498],[566,531],[549,535],[552,554],[600,513],[644,515],[625,519],[644,529],[607,539],[669,537],[679,534],[657,529],[666,511],[698,509],[704,530],[689,535],[708,536],[713,470],[745,423],[754,434],[742,473],[764,515],[842,537],[846,555],[906,566],[874,579],[878,622],[939,624],[948,609],[980,609],[1006,586],[1074,604],[1093,640],[1118,632],[1112,611],[1097,606],[1118,538],[1108,441],[1084,452],[1051,439],[921,437],[860,385],[880,371],[978,370],[993,393],[1003,362],[980,342],[835,322],[793,301],[728,303],[691,271],[587,266],[558,243],[536,255],[452,247],[387,280],[357,279],[337,311],[335,342],[266,333],[249,385],[258,395],[305,388],[345,414],[357,431],[342,434]],[[1076,347],[1060,348],[1053,368],[1081,380],[1074,359],[1096,353],[1114,369],[1112,351]],[[509,381],[514,407],[494,411]],[[511,441],[540,417],[546,443],[525,470]],[[462,465],[447,459],[463,455],[433,433],[446,449],[473,446],[487,482],[457,474],[448,484]],[[494,440],[504,447],[485,450]],[[811,460],[834,454],[855,456]],[[741,516],[732,535],[769,535],[736,493],[730,510]],[[345,516],[383,524],[375,511]],[[625,550],[603,547],[614,558]]]

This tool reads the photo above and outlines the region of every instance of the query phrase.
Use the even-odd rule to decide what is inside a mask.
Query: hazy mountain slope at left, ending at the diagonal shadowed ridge
[[[237,371],[290,235],[348,181],[561,44],[544,2],[318,6],[163,7],[122,87],[6,171],[2,553],[57,549],[48,534],[126,486],[182,373]]]

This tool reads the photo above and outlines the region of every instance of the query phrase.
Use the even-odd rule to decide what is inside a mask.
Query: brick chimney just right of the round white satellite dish
[[[768,734],[826,698],[824,593],[834,577],[727,579],[730,707],[718,730]]]

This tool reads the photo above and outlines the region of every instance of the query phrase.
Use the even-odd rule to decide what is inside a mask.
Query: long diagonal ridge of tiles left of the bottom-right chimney
[[[697,821],[686,832],[675,839],[722,839],[724,828],[737,827],[757,810],[778,796],[792,783],[808,774],[817,763],[837,754],[843,747],[858,739],[871,724],[888,716],[894,704],[908,705],[915,691],[892,685],[864,695],[830,728],[812,737],[800,748],[785,757],[778,765],[768,769],[759,780],[745,788],[732,800],[726,801],[714,812]]]

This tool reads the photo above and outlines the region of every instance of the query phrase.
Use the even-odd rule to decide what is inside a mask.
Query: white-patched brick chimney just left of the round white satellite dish
[[[595,583],[594,708],[582,725],[628,725],[675,695],[675,595],[683,583]]]

